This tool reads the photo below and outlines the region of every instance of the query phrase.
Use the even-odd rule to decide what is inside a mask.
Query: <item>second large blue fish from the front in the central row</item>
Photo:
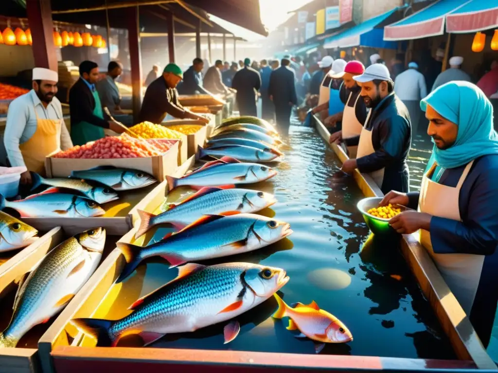
[[[205,216],[180,232],[152,245],[140,247],[118,242],[126,266],[118,279],[123,281],[144,259],[160,256],[171,267],[187,262],[226,257],[268,246],[292,234],[290,225],[266,216],[247,213]]]

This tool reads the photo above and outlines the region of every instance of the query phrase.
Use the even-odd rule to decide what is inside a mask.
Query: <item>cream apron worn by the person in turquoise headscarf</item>
[[[448,187],[431,180],[436,164],[434,163],[422,178],[418,210],[432,216],[461,221],[458,196],[474,161],[466,167],[457,187]],[[420,243],[425,247],[436,264],[443,279],[448,284],[467,315],[470,315],[477,287],[481,278],[484,255],[473,254],[435,254],[432,250],[430,232],[420,230]]]

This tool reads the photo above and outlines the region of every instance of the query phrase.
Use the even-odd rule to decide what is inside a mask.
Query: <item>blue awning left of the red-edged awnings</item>
[[[373,48],[396,49],[397,43],[383,40],[382,28],[375,28],[388,17],[390,17],[398,8],[391,9],[376,17],[370,18],[363,23],[351,27],[337,35],[325,39],[324,48],[347,48],[362,45]]]

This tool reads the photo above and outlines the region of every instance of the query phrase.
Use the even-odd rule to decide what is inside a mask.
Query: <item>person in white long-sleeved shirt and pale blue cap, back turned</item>
[[[394,93],[408,108],[411,119],[412,133],[417,133],[418,123],[422,114],[420,100],[427,95],[424,76],[418,72],[418,64],[410,62],[408,70],[403,71],[394,79]]]

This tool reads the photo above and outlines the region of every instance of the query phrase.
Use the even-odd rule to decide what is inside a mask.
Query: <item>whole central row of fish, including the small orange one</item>
[[[254,214],[274,204],[273,195],[235,188],[275,176],[275,170],[258,163],[282,156],[278,150],[282,142],[273,126],[252,117],[241,120],[248,123],[234,119],[224,122],[213,132],[209,147],[200,151],[201,158],[210,156],[214,161],[182,178],[167,177],[169,190],[191,187],[197,190],[195,194],[158,215],[138,211],[140,225],[135,238],[166,223],[175,233],[145,247],[119,242],[126,265],[117,282],[126,280],[150,257],[164,258],[170,268],[181,267],[176,279],[135,301],[129,307],[132,312],[120,320],[73,319],[72,323],[96,338],[98,345],[116,346],[129,334],[138,334],[148,345],[165,334],[193,332],[231,320],[224,328],[228,343],[240,332],[237,316],[272,295],[279,305],[273,317],[289,317],[287,329],[299,329],[301,334],[296,337],[315,341],[317,353],[324,343],[353,340],[346,326],[315,302],[293,307],[285,304],[276,294],[289,280],[281,268],[250,263],[197,264],[258,250],[292,233],[288,223]]]

